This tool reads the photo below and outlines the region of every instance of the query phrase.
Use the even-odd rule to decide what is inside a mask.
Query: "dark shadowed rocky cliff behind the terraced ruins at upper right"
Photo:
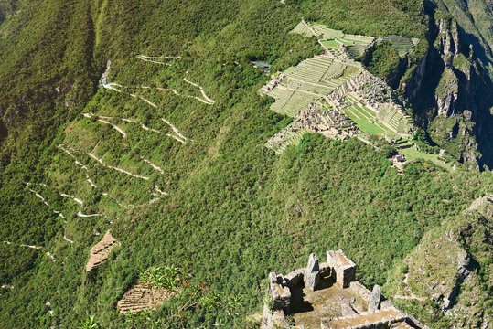
[[[402,90],[414,121],[438,144],[472,167],[491,166],[493,84],[452,16],[429,8],[428,49]]]

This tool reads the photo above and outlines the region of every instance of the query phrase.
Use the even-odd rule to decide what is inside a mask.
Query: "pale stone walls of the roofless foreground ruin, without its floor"
[[[322,329],[387,329],[393,327],[394,324],[398,324],[399,328],[428,329],[409,314],[402,313],[390,301],[381,301],[380,287],[375,286],[373,292],[370,292],[359,281],[356,281],[356,264],[349,260],[342,250],[328,251],[327,262],[323,263],[318,263],[316,255],[311,254],[305,268],[291,271],[285,276],[271,272],[268,279],[268,291],[272,301],[269,302],[270,305],[266,303],[263,305],[261,328],[303,328],[303,326],[290,326],[285,318],[286,314],[292,313],[291,290],[300,285],[304,285],[308,290],[317,290],[318,281],[314,280],[316,277],[332,277],[338,289],[344,291],[348,289],[355,296],[369,303],[369,310],[366,312],[358,313],[359,311],[351,308],[352,312],[343,312],[347,316],[321,318],[320,327]],[[352,307],[350,304],[348,306]]]

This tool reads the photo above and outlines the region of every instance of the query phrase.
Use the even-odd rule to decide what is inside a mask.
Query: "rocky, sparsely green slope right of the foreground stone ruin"
[[[488,328],[493,313],[491,195],[425,235],[396,270],[386,288],[394,302],[422,313],[437,327]],[[430,315],[432,314],[432,315]],[[433,320],[432,320],[433,319]]]

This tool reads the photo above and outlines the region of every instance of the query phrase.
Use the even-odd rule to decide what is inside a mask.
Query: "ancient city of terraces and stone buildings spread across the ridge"
[[[391,41],[403,56],[413,51],[414,41],[408,37],[374,38],[344,35],[316,23],[302,22],[293,33],[315,36],[324,55],[305,59],[295,67],[272,75],[261,94],[276,101],[271,110],[293,117],[292,124],[276,133],[265,146],[277,154],[289,145],[299,143],[304,133],[321,133],[327,138],[345,140],[360,138],[360,131],[370,125],[383,137],[409,139],[413,121],[398,101],[396,93],[384,80],[373,76],[353,58],[359,58],[374,42]],[[331,40],[325,46],[321,40]],[[415,40],[418,42],[419,40]]]

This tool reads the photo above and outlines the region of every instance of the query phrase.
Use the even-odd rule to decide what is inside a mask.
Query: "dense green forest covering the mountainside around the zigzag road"
[[[288,32],[313,13],[314,20],[348,33],[423,37],[418,2],[15,3],[18,11],[0,25],[0,127],[6,131],[0,240],[13,242],[0,245],[0,285],[15,287],[0,289],[0,326],[77,327],[94,316],[102,327],[117,327],[125,319],[116,302],[138,271],[152,266],[186,266],[225,299],[240,294],[240,319],[261,303],[255,277],[299,267],[311,251],[342,248],[359,264],[360,281],[383,284],[392,262],[413,250],[427,230],[491,188],[490,173],[447,173],[426,161],[397,175],[387,144],[375,151],[358,140],[339,143],[306,134],[280,156],[263,146],[288,121],[258,95],[268,78],[250,60],[285,69],[312,57],[316,41]],[[368,12],[361,15],[361,8]],[[356,16],[364,19],[349,19]],[[414,60],[423,56],[418,48]],[[138,54],[183,58],[169,60],[167,67],[143,62]],[[96,89],[108,59],[109,81],[133,86],[125,91],[157,108],[123,92]],[[184,97],[200,96],[184,77],[216,102]],[[183,95],[137,86],[173,88]],[[166,118],[188,143],[111,120],[127,133],[123,138],[109,124],[83,117],[85,112],[131,118],[172,133],[161,121]],[[59,144],[75,149],[87,172]],[[89,152],[150,179],[103,167]],[[151,202],[154,186],[169,196]],[[79,197],[83,206],[60,192]],[[134,207],[120,207],[103,193]],[[105,217],[78,217],[79,210]],[[89,249],[101,239],[94,231],[107,229],[122,247],[86,273]],[[231,326],[235,319],[227,311],[198,312],[187,325]]]

